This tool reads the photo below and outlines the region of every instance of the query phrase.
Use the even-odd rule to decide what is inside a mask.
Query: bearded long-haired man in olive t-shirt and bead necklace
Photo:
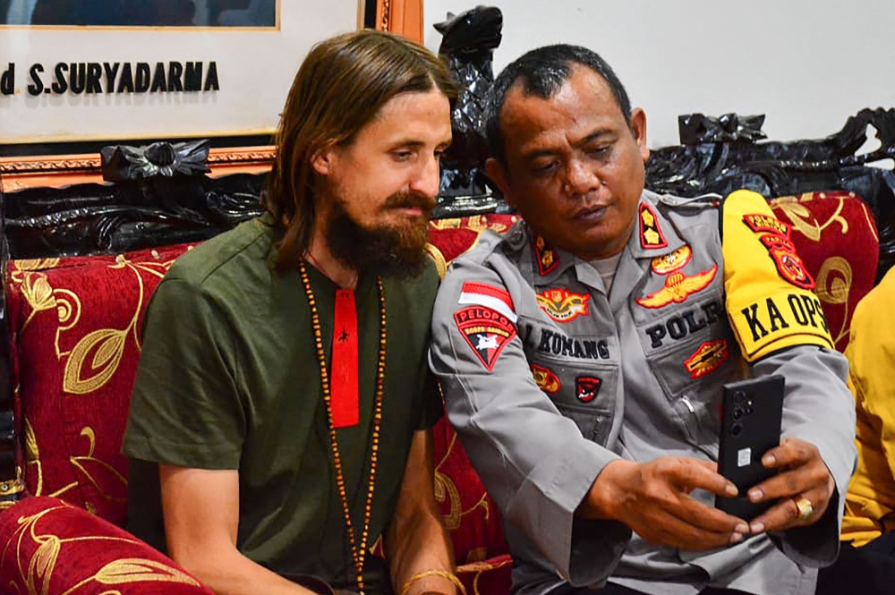
[[[217,593],[456,592],[425,253],[455,97],[405,39],[314,47],[267,212],[153,295],[124,439],[130,528]],[[388,562],[368,555],[380,536]]]

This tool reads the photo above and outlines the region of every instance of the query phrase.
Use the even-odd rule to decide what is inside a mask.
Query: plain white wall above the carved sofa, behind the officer
[[[481,2],[425,0],[432,23]],[[495,0],[495,73],[548,43],[599,52],[646,110],[649,144],[678,143],[678,115],[766,114],[774,140],[823,138],[863,107],[895,106],[891,0]]]

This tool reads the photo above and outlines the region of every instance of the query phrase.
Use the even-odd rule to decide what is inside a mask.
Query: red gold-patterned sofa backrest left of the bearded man
[[[13,369],[31,495],[60,497],[124,524],[121,439],[142,315],[188,248],[10,263]]]

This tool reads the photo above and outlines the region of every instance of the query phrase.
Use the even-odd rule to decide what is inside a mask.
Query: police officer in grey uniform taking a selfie
[[[439,290],[430,365],[505,520],[517,593],[814,592],[855,461],[847,364],[788,225],[738,191],[644,191],[646,117],[599,55],[495,81],[486,169],[523,221]],[[722,242],[723,238],[723,242]],[[721,387],[786,378],[776,471],[717,472]]]

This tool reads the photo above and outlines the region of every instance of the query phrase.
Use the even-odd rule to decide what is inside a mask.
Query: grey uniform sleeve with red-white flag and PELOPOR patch
[[[535,384],[510,295],[494,270],[457,261],[435,302],[430,367],[448,419],[505,520],[568,582],[601,582],[618,564],[630,530],[599,521],[573,531],[574,514],[618,456],[585,439]]]

